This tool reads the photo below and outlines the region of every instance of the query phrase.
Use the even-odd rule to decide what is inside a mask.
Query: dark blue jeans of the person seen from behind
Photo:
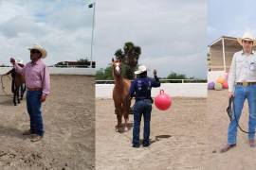
[[[150,119],[151,119],[152,103],[150,99],[136,101],[134,106],[134,131],[133,144],[139,145],[139,129],[141,116],[144,118],[143,144],[149,144],[150,137]]]

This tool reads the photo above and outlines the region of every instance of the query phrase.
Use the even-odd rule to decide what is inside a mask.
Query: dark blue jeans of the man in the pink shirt
[[[30,118],[30,131],[44,136],[44,124],[41,111],[42,91],[27,91],[27,112]]]

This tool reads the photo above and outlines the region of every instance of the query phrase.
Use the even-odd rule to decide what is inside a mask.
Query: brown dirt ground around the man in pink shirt
[[[94,89],[93,76],[51,76],[46,134],[38,143],[22,135],[29,127],[26,101],[14,107],[0,89],[0,169],[94,169]]]

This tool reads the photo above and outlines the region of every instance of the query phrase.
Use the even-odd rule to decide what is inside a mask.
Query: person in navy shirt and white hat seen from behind
[[[129,92],[131,98],[134,96],[136,97],[134,106],[133,147],[139,147],[139,129],[142,114],[144,118],[144,139],[142,144],[146,147],[150,145],[150,119],[153,103],[151,89],[152,87],[159,87],[160,81],[156,76],[155,70],[155,78],[148,77],[147,68],[144,65],[138,66],[135,74],[137,75],[137,78],[133,81]]]

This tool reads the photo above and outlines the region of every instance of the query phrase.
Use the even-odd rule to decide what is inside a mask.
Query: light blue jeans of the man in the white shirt
[[[234,92],[234,109],[235,114],[239,121],[245,100],[248,102],[248,131],[254,131],[256,127],[256,85],[250,85],[243,87],[242,85],[236,85]],[[237,123],[234,119],[229,124],[228,131],[228,144],[236,144],[237,135]],[[255,133],[248,133],[248,139],[254,139]]]

